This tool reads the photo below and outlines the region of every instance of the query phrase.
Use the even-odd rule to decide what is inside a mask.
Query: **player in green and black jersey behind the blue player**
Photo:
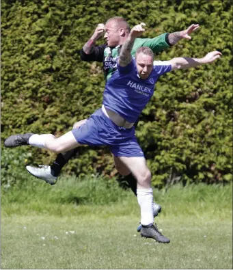
[[[158,53],[162,50],[168,49],[169,46],[176,44],[182,38],[190,40],[191,36],[189,35],[198,27],[199,25],[193,24],[183,31],[163,33],[156,38],[136,38],[131,55],[135,57],[137,49],[141,46],[148,46],[154,53]],[[83,49],[80,51],[81,60],[86,62],[102,62],[105,81],[107,81],[111,78],[115,70],[117,70],[116,59],[120,55],[122,44],[128,37],[130,30],[131,29],[126,20],[119,16],[110,18],[105,25],[102,23],[98,24],[98,27],[96,27],[92,37],[84,44]],[[103,33],[105,33],[105,44],[96,46],[96,41]],[[74,128],[78,128],[85,121],[86,120],[81,120],[75,123]],[[136,125],[137,124],[135,124],[135,126]],[[57,182],[57,178],[62,167],[64,167],[64,165],[76,154],[77,149],[72,149],[68,152],[58,154],[51,166],[27,166],[26,168],[33,176],[44,180],[46,183],[54,185]],[[124,176],[124,180],[126,180],[128,185],[131,187],[133,193],[137,195],[136,179],[133,177],[130,170],[128,170],[128,167],[126,167],[118,157],[113,156],[113,158],[116,169],[122,176]],[[158,215],[160,211],[161,206],[154,202],[154,217]]]

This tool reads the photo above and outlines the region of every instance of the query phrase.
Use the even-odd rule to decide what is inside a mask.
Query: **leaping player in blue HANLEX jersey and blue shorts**
[[[144,23],[131,29],[117,59],[117,70],[105,85],[101,109],[88,118],[79,129],[55,138],[51,134],[12,135],[5,139],[5,147],[31,145],[53,152],[65,152],[78,146],[109,146],[114,157],[128,167],[137,179],[137,200],[141,208],[141,236],[169,243],[153,224],[153,191],[151,174],[146,165],[137,138],[134,123],[154,93],[159,76],[180,68],[210,64],[221,56],[218,51],[203,58],[177,57],[169,61],[154,62],[154,54],[148,47],[137,49],[135,59],[131,55],[135,39],[145,31]]]

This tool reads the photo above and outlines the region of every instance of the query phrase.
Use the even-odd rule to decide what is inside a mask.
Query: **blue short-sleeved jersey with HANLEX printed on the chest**
[[[126,121],[134,123],[154,94],[154,85],[159,76],[172,70],[169,62],[154,62],[148,79],[140,79],[135,59],[128,66],[118,65],[118,70],[105,85],[103,105],[120,114]]]

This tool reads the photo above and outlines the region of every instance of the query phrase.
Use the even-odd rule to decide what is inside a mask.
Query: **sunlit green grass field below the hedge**
[[[72,185],[78,193],[85,184],[36,181],[31,193],[2,194],[1,269],[232,269],[232,185],[155,191],[163,206],[156,223],[171,240],[161,244],[137,233],[131,192],[119,189],[120,199],[109,195],[107,204],[93,193],[94,202],[74,204],[57,201],[59,190]]]

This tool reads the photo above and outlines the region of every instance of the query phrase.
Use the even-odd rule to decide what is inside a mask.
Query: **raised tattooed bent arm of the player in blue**
[[[128,38],[122,45],[122,49],[120,51],[120,56],[118,58],[118,64],[120,66],[128,66],[128,64],[131,63],[131,51],[133,49],[133,43],[135,42],[135,39],[141,36],[141,33],[145,31],[145,29],[143,29],[143,26],[145,26],[145,23],[140,23],[139,25],[135,25],[135,27],[131,29]]]

